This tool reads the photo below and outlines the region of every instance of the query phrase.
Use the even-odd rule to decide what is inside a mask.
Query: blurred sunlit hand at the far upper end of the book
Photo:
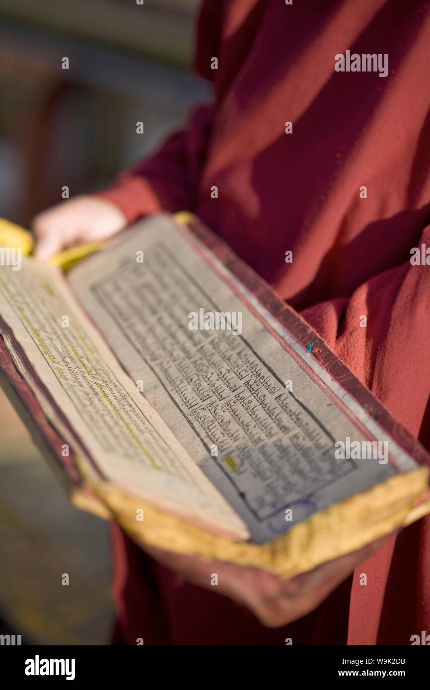
[[[91,195],[74,197],[35,217],[35,255],[49,259],[63,249],[108,239],[126,225],[124,213],[111,201]]]

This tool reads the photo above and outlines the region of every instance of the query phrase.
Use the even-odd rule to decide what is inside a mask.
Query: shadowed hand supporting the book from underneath
[[[355,566],[369,558],[386,541],[387,538],[380,539],[308,573],[287,579],[257,568],[222,561],[206,562],[193,556],[141,546],[155,560],[188,582],[226,595],[252,611],[262,624],[275,628],[313,611],[353,572]],[[217,575],[216,586],[211,584],[213,575]]]

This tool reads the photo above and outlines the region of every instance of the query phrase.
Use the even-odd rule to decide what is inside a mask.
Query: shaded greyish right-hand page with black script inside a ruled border
[[[333,403],[333,386],[309,377],[252,313],[250,295],[237,297],[224,266],[186,232],[167,215],[142,221],[68,279],[150,404],[253,540],[265,542],[397,470],[336,459],[336,440],[378,439],[380,428],[362,434],[353,422],[360,409]]]

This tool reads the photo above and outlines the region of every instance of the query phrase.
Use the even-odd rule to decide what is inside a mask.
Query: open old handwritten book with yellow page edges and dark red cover
[[[282,576],[430,511],[427,452],[197,219],[1,263],[1,385],[81,508]]]

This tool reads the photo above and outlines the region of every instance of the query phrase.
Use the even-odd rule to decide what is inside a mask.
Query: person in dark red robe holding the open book
[[[428,10],[206,0],[195,60],[213,102],[112,188],[38,215],[39,257],[191,210],[429,448],[430,266],[411,262],[430,247]],[[291,580],[144,551],[117,526],[113,543],[121,644],[411,644],[430,633],[428,518]]]

